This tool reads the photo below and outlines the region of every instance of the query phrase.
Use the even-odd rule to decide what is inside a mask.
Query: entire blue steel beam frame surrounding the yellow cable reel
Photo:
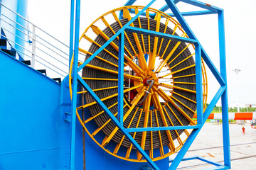
[[[78,81],[80,84],[86,89],[86,91],[95,99],[98,105],[102,108],[105,113],[109,116],[112,122],[117,125],[119,130],[123,132],[123,134],[127,137],[127,139],[132,142],[134,147],[142,154],[142,156],[146,159],[147,162],[152,166],[153,169],[159,169],[156,164],[150,159],[149,155],[144,152],[142,147],[129,135],[129,132],[142,132],[142,131],[154,131],[154,130],[178,130],[178,129],[193,129],[191,135],[188,137],[186,142],[184,143],[181,150],[178,152],[176,158],[171,161],[171,166],[169,166],[168,170],[176,169],[178,164],[181,161],[188,160],[188,159],[200,159],[204,162],[209,164],[213,164],[217,167],[214,169],[230,169],[230,139],[229,139],[229,127],[228,127],[228,98],[227,98],[227,78],[226,78],[226,62],[225,62],[225,32],[224,32],[224,16],[223,16],[223,9],[211,6],[209,4],[202,3],[196,0],[165,0],[166,5],[160,8],[160,11],[166,11],[168,8],[171,9],[173,13],[170,16],[174,16],[177,18],[178,22],[183,27],[183,30],[186,31],[189,38],[181,38],[175,35],[167,35],[164,33],[157,33],[151,30],[144,30],[140,28],[133,28],[129,25],[139,16],[144,15],[146,8],[149,8],[151,4],[154,3],[156,0],[151,0],[149,4],[147,4],[139,13],[132,18],[125,26],[123,26],[115,35],[110,38],[107,42],[105,42],[99,50],[97,50],[92,56],[90,56],[79,68],[78,68],[78,40],[79,40],[79,18],[80,18],[80,0],[72,0],[76,1],[76,8],[75,8],[75,44],[74,44],[74,63],[73,63],[73,96],[72,96],[72,123],[71,123],[71,142],[70,142],[70,169],[75,169],[75,115],[76,115],[76,100],[77,100],[77,86]],[[126,5],[134,4],[136,0],[129,0],[127,1]],[[176,4],[179,1],[183,1],[186,4],[191,4],[194,6],[198,6],[201,8],[205,8],[207,11],[194,11],[194,12],[185,12],[181,13],[178,11]],[[73,12],[74,10],[71,9],[71,19],[74,18]],[[131,11],[132,12],[132,11]],[[183,16],[197,16],[197,15],[205,15],[205,14],[212,14],[218,13],[218,32],[219,32],[219,48],[220,48],[220,72],[215,68],[213,62],[211,62],[210,57],[208,57],[206,51],[203,49],[202,45],[193,34],[191,28],[189,28],[188,24],[186,23]],[[122,16],[122,15],[120,15]],[[154,15],[151,15],[151,18],[154,18]],[[71,20],[72,25],[72,20]],[[70,25],[70,43],[73,44],[73,32],[74,27]],[[124,128],[123,127],[123,77],[124,77],[124,30],[134,33],[143,33],[145,35],[154,35],[160,38],[167,38],[172,40],[179,40],[181,42],[189,42],[193,43],[196,47],[196,102],[197,102],[197,115],[198,115],[198,124],[195,126],[176,126],[176,127],[160,127],[160,128]],[[78,72],[85,67],[96,55],[98,55],[107,45],[119,36],[119,74],[118,74],[118,115],[117,118],[110,112],[110,110],[105,106],[105,104],[100,100],[100,98],[90,89],[85,81],[82,80],[82,77],[78,75]],[[72,45],[73,46],[73,45]],[[70,45],[70,47],[72,47]],[[72,57],[73,53],[71,52],[73,49],[70,49],[70,58]],[[72,53],[72,54],[71,54]],[[206,111],[203,112],[203,94],[202,94],[202,69],[201,69],[201,60],[204,60],[208,65],[210,71],[213,73],[215,78],[220,84],[220,89],[218,89],[217,93],[213,97],[212,101]],[[188,148],[191,146],[193,140],[195,140],[198,132],[200,132],[203,124],[206,122],[206,119],[210,115],[210,112],[213,110],[215,104],[221,97],[222,101],[222,113],[223,113],[223,152],[224,152],[224,164],[219,164],[217,162],[211,162],[208,159],[204,159],[202,157],[191,157],[187,159],[183,159],[184,155],[188,151]]]

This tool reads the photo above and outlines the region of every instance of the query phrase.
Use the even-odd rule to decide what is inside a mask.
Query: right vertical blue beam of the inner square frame
[[[201,45],[195,44],[196,47],[196,113],[197,123],[203,123],[203,90],[202,90],[202,60]]]

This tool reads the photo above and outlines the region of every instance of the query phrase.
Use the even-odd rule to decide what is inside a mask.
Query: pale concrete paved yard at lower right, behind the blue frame
[[[256,129],[250,128],[249,124],[244,126],[245,135],[242,135],[242,125],[230,125],[231,166],[233,170],[256,170]],[[195,155],[223,163],[222,125],[205,124],[203,126],[185,157]],[[196,170],[210,167],[213,166],[193,160],[181,162],[178,169]]]

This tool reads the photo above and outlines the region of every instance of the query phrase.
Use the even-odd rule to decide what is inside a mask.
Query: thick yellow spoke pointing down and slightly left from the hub
[[[146,100],[144,101],[144,128],[148,127],[148,123],[149,123],[149,108],[150,108],[150,102],[151,102],[151,94],[149,94],[146,97]],[[142,149],[145,149],[145,143],[146,143],[146,131],[142,132],[142,143],[141,143],[141,147]],[[137,159],[138,160],[142,160],[142,154],[139,153],[139,151],[137,151]]]

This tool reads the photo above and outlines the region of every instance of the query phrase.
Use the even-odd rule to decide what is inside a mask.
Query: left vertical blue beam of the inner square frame
[[[117,118],[123,126],[124,116],[124,32],[119,35],[118,51],[118,113]]]

